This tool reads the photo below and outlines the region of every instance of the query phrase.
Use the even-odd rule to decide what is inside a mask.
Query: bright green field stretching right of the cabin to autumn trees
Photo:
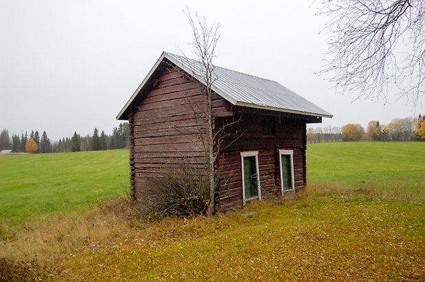
[[[425,202],[425,143],[308,144],[307,180],[373,189],[396,200]]]

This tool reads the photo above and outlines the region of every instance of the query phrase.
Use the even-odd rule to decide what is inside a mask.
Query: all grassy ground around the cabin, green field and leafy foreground
[[[16,226],[13,234],[3,227],[0,281],[425,279],[425,143],[308,144],[304,191],[214,218],[160,222],[139,220],[117,196],[128,189],[127,152],[91,153],[0,156],[1,217]],[[61,160],[73,165],[55,174]],[[50,176],[37,178],[42,171]],[[11,196],[34,187],[54,209]],[[7,204],[23,215],[8,220]],[[27,216],[27,207],[45,216]]]

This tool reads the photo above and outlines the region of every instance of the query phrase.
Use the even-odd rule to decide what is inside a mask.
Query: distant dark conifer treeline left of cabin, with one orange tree
[[[43,131],[40,137],[38,130],[21,135],[13,134],[9,136],[8,130],[3,129],[0,133],[0,150],[12,150],[12,152],[31,153],[56,153],[56,152],[80,152],[98,151],[128,148],[128,123],[121,123],[113,128],[112,134],[107,135],[95,128],[93,135],[80,136],[77,132],[72,137],[59,139],[58,142],[51,142],[47,137],[47,132]]]

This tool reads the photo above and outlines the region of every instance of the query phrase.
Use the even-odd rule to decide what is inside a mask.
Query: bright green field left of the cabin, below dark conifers
[[[0,156],[0,223],[16,225],[128,191],[128,150]]]

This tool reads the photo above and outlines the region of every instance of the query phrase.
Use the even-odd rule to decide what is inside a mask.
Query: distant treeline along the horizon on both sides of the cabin
[[[425,116],[393,119],[389,124],[380,124],[379,121],[369,121],[367,128],[360,124],[346,124],[341,127],[309,128],[308,143],[337,142],[337,141],[425,141]],[[80,136],[77,132],[72,137],[59,139],[51,143],[47,132],[39,134],[38,130],[9,136],[8,130],[0,133],[0,151],[32,153],[56,153],[97,151],[128,148],[128,123],[121,123],[113,128],[112,134],[107,135],[95,128],[93,135]]]

